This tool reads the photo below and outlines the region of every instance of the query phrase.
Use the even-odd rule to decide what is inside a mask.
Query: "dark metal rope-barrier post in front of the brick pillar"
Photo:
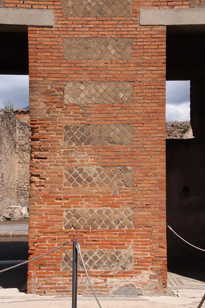
[[[77,241],[73,241],[72,308],[77,308]]]

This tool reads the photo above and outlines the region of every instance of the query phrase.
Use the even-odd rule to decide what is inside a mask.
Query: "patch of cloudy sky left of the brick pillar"
[[[14,109],[29,105],[28,75],[0,75],[0,109],[4,109],[3,101],[8,100],[14,103]]]

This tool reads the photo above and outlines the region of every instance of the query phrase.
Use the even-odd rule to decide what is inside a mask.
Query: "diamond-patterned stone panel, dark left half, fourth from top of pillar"
[[[64,130],[69,145],[132,144],[132,125],[65,125]]]

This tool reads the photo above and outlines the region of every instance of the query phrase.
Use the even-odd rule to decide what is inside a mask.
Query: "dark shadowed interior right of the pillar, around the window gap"
[[[166,141],[167,222],[205,249],[205,26],[167,27],[167,80],[190,80],[194,139]],[[168,271],[205,281],[205,252],[167,231]]]

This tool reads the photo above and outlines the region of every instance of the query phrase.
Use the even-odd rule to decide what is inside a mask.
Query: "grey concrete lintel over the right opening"
[[[205,8],[141,9],[141,26],[204,25]]]

